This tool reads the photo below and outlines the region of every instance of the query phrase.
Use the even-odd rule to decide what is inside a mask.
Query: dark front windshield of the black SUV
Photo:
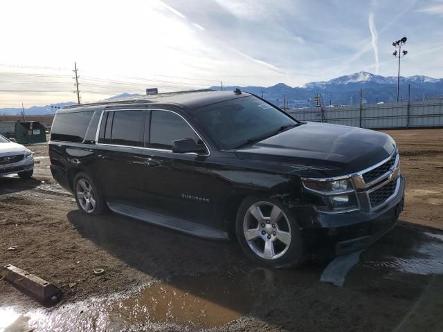
[[[237,149],[300,124],[253,96],[199,107],[192,116],[221,149]]]

